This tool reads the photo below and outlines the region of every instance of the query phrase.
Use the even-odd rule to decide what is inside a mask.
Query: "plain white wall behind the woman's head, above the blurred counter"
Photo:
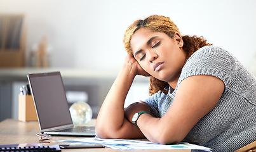
[[[26,16],[27,56],[46,35],[54,67],[118,70],[128,25],[158,14],[170,16],[183,35],[203,35],[251,68],[255,6],[254,0],[0,0],[0,13]]]

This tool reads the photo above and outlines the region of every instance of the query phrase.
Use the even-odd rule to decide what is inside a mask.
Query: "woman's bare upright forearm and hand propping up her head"
[[[148,75],[134,58],[126,56],[125,63],[98,113],[95,127],[98,137],[123,139],[144,137],[140,129],[125,118],[124,113],[125,98],[137,74]]]

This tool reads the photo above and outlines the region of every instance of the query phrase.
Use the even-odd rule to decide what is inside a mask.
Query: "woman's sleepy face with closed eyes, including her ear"
[[[131,37],[131,49],[140,66],[159,80],[177,83],[186,61],[180,34],[173,38],[163,32],[140,28]],[[171,85],[172,86],[172,85]]]

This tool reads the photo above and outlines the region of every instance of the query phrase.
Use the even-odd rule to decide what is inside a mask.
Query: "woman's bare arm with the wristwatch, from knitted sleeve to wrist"
[[[144,114],[138,118],[137,125],[154,143],[179,143],[217,105],[223,91],[224,82],[217,77],[188,77],[180,83],[172,106],[162,118]]]

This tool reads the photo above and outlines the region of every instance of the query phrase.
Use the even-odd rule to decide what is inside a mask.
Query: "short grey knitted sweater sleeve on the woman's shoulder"
[[[224,82],[224,92],[226,92],[236,71],[234,68],[236,68],[234,56],[220,47],[205,46],[198,49],[187,60],[182,69],[178,85],[182,80],[193,75],[212,75]]]

